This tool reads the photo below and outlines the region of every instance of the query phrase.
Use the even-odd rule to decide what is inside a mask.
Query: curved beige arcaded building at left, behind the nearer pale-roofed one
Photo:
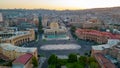
[[[20,45],[24,42],[35,40],[35,32],[33,29],[28,31],[17,31],[17,32],[3,32],[0,33],[2,43],[11,43],[13,45]]]

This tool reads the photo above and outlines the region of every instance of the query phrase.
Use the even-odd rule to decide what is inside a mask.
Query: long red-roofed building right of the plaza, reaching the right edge
[[[95,41],[100,44],[107,43],[108,39],[120,39],[120,35],[113,35],[109,32],[100,32],[91,29],[77,29],[76,35],[80,39]]]

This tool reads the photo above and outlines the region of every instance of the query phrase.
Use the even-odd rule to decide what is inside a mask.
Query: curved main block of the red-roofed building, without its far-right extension
[[[89,29],[77,29],[76,35],[83,40],[95,41],[100,44],[107,43],[108,38],[102,32]]]

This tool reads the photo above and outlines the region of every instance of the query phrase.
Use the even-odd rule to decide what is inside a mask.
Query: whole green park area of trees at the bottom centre
[[[53,54],[49,57],[48,64],[48,68],[99,68],[93,57],[77,54],[69,54],[68,59],[61,59]]]

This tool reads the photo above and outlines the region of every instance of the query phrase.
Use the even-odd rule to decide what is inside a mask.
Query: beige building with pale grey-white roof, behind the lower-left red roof
[[[30,53],[37,58],[37,48],[18,47],[7,43],[0,44],[0,53],[7,56],[10,60],[16,59],[26,53]]]

